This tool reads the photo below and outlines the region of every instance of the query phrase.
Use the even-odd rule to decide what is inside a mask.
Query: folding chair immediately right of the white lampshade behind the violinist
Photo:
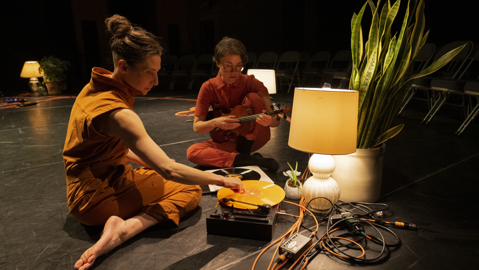
[[[279,79],[280,82],[280,89],[283,90],[283,84],[281,83],[282,78],[286,78],[286,82],[288,84],[288,93],[291,89],[291,85],[295,80],[295,77],[298,79],[298,85],[300,83],[299,80],[299,72],[298,72],[298,65],[299,65],[299,52],[297,51],[287,51],[283,53],[278,61],[278,65],[276,66],[275,73],[276,78]],[[281,68],[281,69],[280,69]]]

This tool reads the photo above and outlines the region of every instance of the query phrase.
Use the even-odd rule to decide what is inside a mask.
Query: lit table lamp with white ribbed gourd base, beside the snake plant
[[[303,196],[313,210],[328,209],[341,196],[338,183],[330,177],[335,169],[331,155],[356,152],[358,99],[354,90],[294,90],[288,145],[313,153],[308,162],[312,176],[303,184]]]

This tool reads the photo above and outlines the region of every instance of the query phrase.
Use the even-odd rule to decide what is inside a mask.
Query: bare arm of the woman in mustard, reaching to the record
[[[166,180],[189,185],[217,184],[236,191],[244,191],[241,180],[238,178],[226,178],[203,172],[168,158],[147,134],[140,117],[132,110],[115,110],[103,117],[106,121],[103,121],[101,132],[119,137],[136,154],[136,157]]]

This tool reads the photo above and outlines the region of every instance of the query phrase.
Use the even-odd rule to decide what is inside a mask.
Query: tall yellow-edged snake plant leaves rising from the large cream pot
[[[372,11],[372,22],[369,40],[363,47],[361,19],[368,3]],[[393,5],[387,0],[379,8],[381,0],[378,0],[376,8],[372,0],[368,0],[359,13],[352,16],[352,72],[349,90],[359,91],[358,149],[374,148],[397,135],[404,124],[391,128],[392,120],[399,112],[413,79],[443,67],[464,47],[446,53],[431,66],[413,74],[414,59],[429,34],[429,31],[424,34],[424,0],[408,2],[399,34],[391,36],[391,26],[399,4],[400,0]],[[414,23],[411,22],[413,17]]]

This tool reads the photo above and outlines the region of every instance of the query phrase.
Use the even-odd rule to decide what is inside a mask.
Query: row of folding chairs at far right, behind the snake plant
[[[455,41],[437,50],[434,44],[424,44],[415,59],[415,63],[418,63],[418,69],[414,71],[414,74],[461,45],[465,45],[464,48],[445,67],[431,74],[431,76],[414,79],[398,114],[417,95],[418,91],[423,91],[429,111],[422,122],[428,124],[445,104],[460,106],[464,111],[465,120],[457,129],[456,134],[462,134],[479,114],[479,76],[469,80],[464,77],[473,62],[479,60],[479,50],[474,49],[473,42]],[[458,99],[459,104],[446,103],[451,98]]]

